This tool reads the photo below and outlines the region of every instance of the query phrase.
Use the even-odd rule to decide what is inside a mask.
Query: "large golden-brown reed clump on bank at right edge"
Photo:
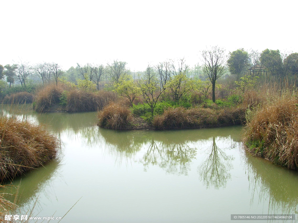
[[[297,97],[287,94],[250,112],[244,133],[248,151],[274,164],[298,169],[297,103]]]

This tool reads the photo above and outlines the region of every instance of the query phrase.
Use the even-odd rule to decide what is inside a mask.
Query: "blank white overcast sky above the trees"
[[[298,52],[298,1],[2,1],[0,64],[63,69],[118,59],[132,71],[199,62],[206,46]]]

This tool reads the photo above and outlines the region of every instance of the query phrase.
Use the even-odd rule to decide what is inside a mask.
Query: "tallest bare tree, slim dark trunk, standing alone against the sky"
[[[227,55],[223,48],[213,46],[209,50],[202,52],[202,62],[204,75],[209,78],[212,84],[212,101],[215,102],[215,83],[216,80],[222,77],[226,71]]]

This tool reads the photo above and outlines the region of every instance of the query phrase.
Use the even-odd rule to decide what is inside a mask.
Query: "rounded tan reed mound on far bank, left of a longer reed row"
[[[60,101],[63,92],[63,86],[56,84],[49,84],[41,88],[35,96],[34,109],[36,112],[46,112],[49,107],[55,105]]]

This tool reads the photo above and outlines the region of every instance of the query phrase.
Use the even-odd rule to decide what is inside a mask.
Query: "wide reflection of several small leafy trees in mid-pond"
[[[154,139],[151,139],[141,162],[144,164],[145,171],[151,164],[158,165],[167,173],[188,175],[190,162],[195,158],[196,153],[196,148],[190,148],[187,143],[156,143]]]

